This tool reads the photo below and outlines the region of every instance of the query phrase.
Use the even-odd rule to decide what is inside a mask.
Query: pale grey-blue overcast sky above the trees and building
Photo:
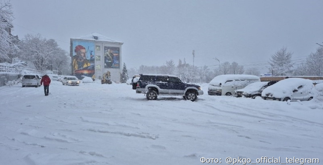
[[[121,41],[128,68],[186,59],[261,68],[282,47],[304,59],[323,42],[322,0],[11,0],[12,34],[41,34],[69,52],[97,32]]]

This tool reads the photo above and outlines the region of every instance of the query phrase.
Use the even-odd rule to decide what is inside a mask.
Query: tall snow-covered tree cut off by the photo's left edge
[[[18,40],[11,35],[13,21],[12,5],[10,2],[0,2],[0,63],[11,62],[13,54],[18,47],[15,42]]]

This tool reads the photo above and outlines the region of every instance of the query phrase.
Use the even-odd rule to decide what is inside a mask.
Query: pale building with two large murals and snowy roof
[[[82,75],[101,79],[109,71],[111,80],[119,82],[122,44],[99,33],[71,38],[72,74],[79,79]]]

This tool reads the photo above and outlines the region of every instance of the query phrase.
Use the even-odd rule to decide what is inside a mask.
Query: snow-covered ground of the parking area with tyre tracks
[[[209,96],[207,85],[196,102],[181,96],[147,101],[131,85],[99,81],[53,81],[49,96],[43,86],[0,87],[0,164],[196,165],[202,157],[221,164],[227,157],[323,162],[322,101]]]

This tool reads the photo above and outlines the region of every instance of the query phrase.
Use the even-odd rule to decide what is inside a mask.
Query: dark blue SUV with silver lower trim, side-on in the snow
[[[202,95],[201,87],[183,83],[177,76],[161,74],[140,74],[136,85],[137,93],[145,93],[147,100],[156,100],[158,95],[177,95],[192,102]]]

